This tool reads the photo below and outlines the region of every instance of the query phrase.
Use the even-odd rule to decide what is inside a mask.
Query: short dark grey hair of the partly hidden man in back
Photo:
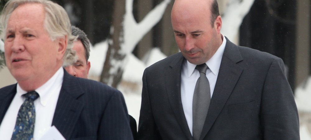
[[[89,60],[90,57],[90,40],[87,38],[87,35],[84,33],[83,30],[76,26],[71,26],[72,35],[78,36],[77,40],[80,40],[83,44],[85,50],[85,59],[86,61]]]

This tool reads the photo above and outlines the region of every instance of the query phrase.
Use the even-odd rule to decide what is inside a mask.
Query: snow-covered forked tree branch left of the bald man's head
[[[124,44],[121,45],[125,53],[131,53],[139,40],[160,21],[169,2],[170,0],[164,0],[158,4],[137,24],[132,12],[133,0],[126,0],[126,14],[123,23]]]

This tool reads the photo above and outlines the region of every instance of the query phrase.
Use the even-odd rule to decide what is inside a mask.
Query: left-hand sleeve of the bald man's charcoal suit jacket
[[[142,77],[142,104],[138,123],[138,140],[161,140],[152,114],[151,98],[148,92],[146,70]]]

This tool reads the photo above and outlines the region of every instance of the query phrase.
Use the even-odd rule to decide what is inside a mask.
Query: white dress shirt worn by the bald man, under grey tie
[[[221,34],[222,35],[222,34]],[[209,69],[206,71],[206,77],[210,83],[211,98],[214,92],[216,80],[218,77],[219,67],[222,55],[224,54],[226,38],[222,35],[223,41],[216,53],[209,59],[206,64]],[[188,60],[183,62],[181,69],[181,102],[183,104],[183,112],[192,135],[192,99],[194,88],[200,73],[195,69],[197,65],[190,63]]]

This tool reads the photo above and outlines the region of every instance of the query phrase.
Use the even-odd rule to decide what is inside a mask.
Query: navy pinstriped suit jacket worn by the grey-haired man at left
[[[16,84],[0,89],[0,122],[15,94]],[[52,125],[67,140],[132,139],[121,92],[100,82],[72,77],[66,70]]]

